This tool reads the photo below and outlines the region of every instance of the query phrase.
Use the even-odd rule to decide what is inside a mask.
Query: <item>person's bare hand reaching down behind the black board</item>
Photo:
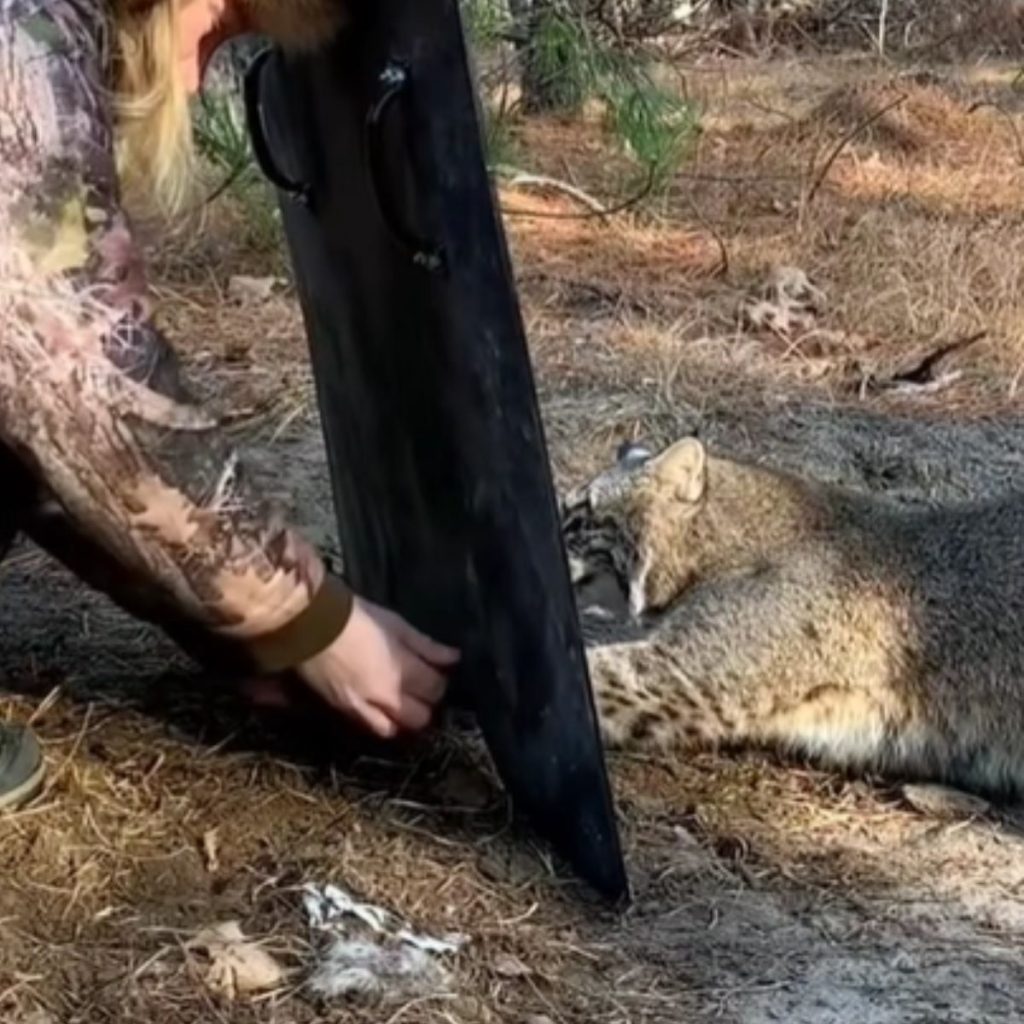
[[[341,635],[297,672],[332,708],[391,737],[430,723],[444,695],[444,670],[458,660],[458,651],[356,597]]]

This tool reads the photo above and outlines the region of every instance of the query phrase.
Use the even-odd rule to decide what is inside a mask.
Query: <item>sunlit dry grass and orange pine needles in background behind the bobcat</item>
[[[705,72],[709,130],[665,216],[608,225],[564,219],[573,209],[564,198],[510,198],[542,357],[551,337],[552,358],[570,369],[586,365],[592,377],[607,364],[616,376],[648,378],[660,373],[650,361],[658,348],[662,362],[687,371],[711,353],[726,387],[737,368],[749,376],[756,367],[758,380],[847,397],[865,377],[984,332],[951,359],[961,379],[943,401],[1013,406],[1024,366],[1024,293],[1008,258],[1020,222],[1021,122],[1006,77],[947,77],[919,84],[844,63],[736,71],[724,82]],[[575,142],[559,131],[560,156],[544,170],[571,161],[589,182],[596,125],[577,128]],[[543,128],[524,135],[545,138]],[[607,176],[604,166],[594,179]],[[524,207],[538,216],[521,216]],[[741,301],[778,263],[824,289],[824,314],[781,339],[741,331]],[[595,359],[567,352],[558,343],[566,337]]]

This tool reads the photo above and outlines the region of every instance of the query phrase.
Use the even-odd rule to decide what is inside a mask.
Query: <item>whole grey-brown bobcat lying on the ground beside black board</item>
[[[851,771],[1024,795],[1024,494],[939,509],[635,446],[563,503],[609,745],[774,745]],[[586,626],[586,614],[585,614]]]

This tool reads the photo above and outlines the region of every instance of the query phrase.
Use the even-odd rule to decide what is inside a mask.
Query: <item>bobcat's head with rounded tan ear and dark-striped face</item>
[[[670,604],[693,573],[686,530],[705,504],[708,457],[687,437],[659,455],[624,444],[615,465],[566,497],[562,536],[572,585],[614,579],[639,618]]]

